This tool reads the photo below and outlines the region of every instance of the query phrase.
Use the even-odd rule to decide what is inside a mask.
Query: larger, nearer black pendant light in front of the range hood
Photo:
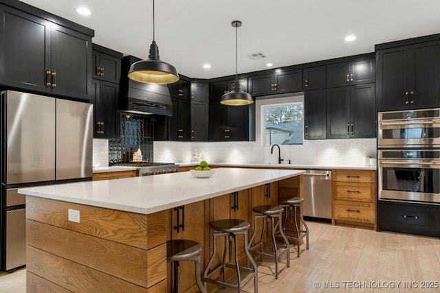
[[[179,75],[173,65],[159,60],[159,48],[155,41],[154,0],[153,0],[153,42],[147,60],[141,60],[131,65],[129,78],[135,82],[148,84],[173,84],[179,80]]]

